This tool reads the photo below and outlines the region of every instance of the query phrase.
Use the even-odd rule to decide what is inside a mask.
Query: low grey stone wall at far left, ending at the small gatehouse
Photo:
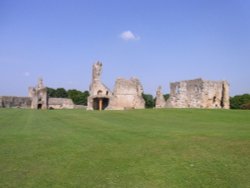
[[[0,108],[30,108],[30,97],[1,96]]]

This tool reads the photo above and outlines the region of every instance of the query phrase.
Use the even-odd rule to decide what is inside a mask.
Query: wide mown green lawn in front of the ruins
[[[250,111],[0,109],[0,187],[250,187]]]

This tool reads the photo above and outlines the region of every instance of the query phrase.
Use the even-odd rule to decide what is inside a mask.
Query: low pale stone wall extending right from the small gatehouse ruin
[[[74,109],[75,105],[72,99],[67,98],[49,98],[49,109]]]

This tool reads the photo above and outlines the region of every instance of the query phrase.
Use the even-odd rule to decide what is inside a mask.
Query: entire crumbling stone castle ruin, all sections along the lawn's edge
[[[102,63],[92,67],[87,110],[144,109],[143,87],[137,78],[118,78],[111,91],[101,81]],[[155,108],[215,108],[229,109],[227,81],[208,81],[201,78],[170,83],[170,96],[166,101],[161,86],[156,92]],[[29,87],[29,97],[0,96],[0,108],[73,109],[67,98],[50,98],[43,80]]]

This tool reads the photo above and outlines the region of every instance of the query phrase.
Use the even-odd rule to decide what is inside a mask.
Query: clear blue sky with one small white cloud
[[[1,0],[0,95],[48,87],[87,90],[138,77],[145,93],[202,77],[250,93],[249,0]]]

